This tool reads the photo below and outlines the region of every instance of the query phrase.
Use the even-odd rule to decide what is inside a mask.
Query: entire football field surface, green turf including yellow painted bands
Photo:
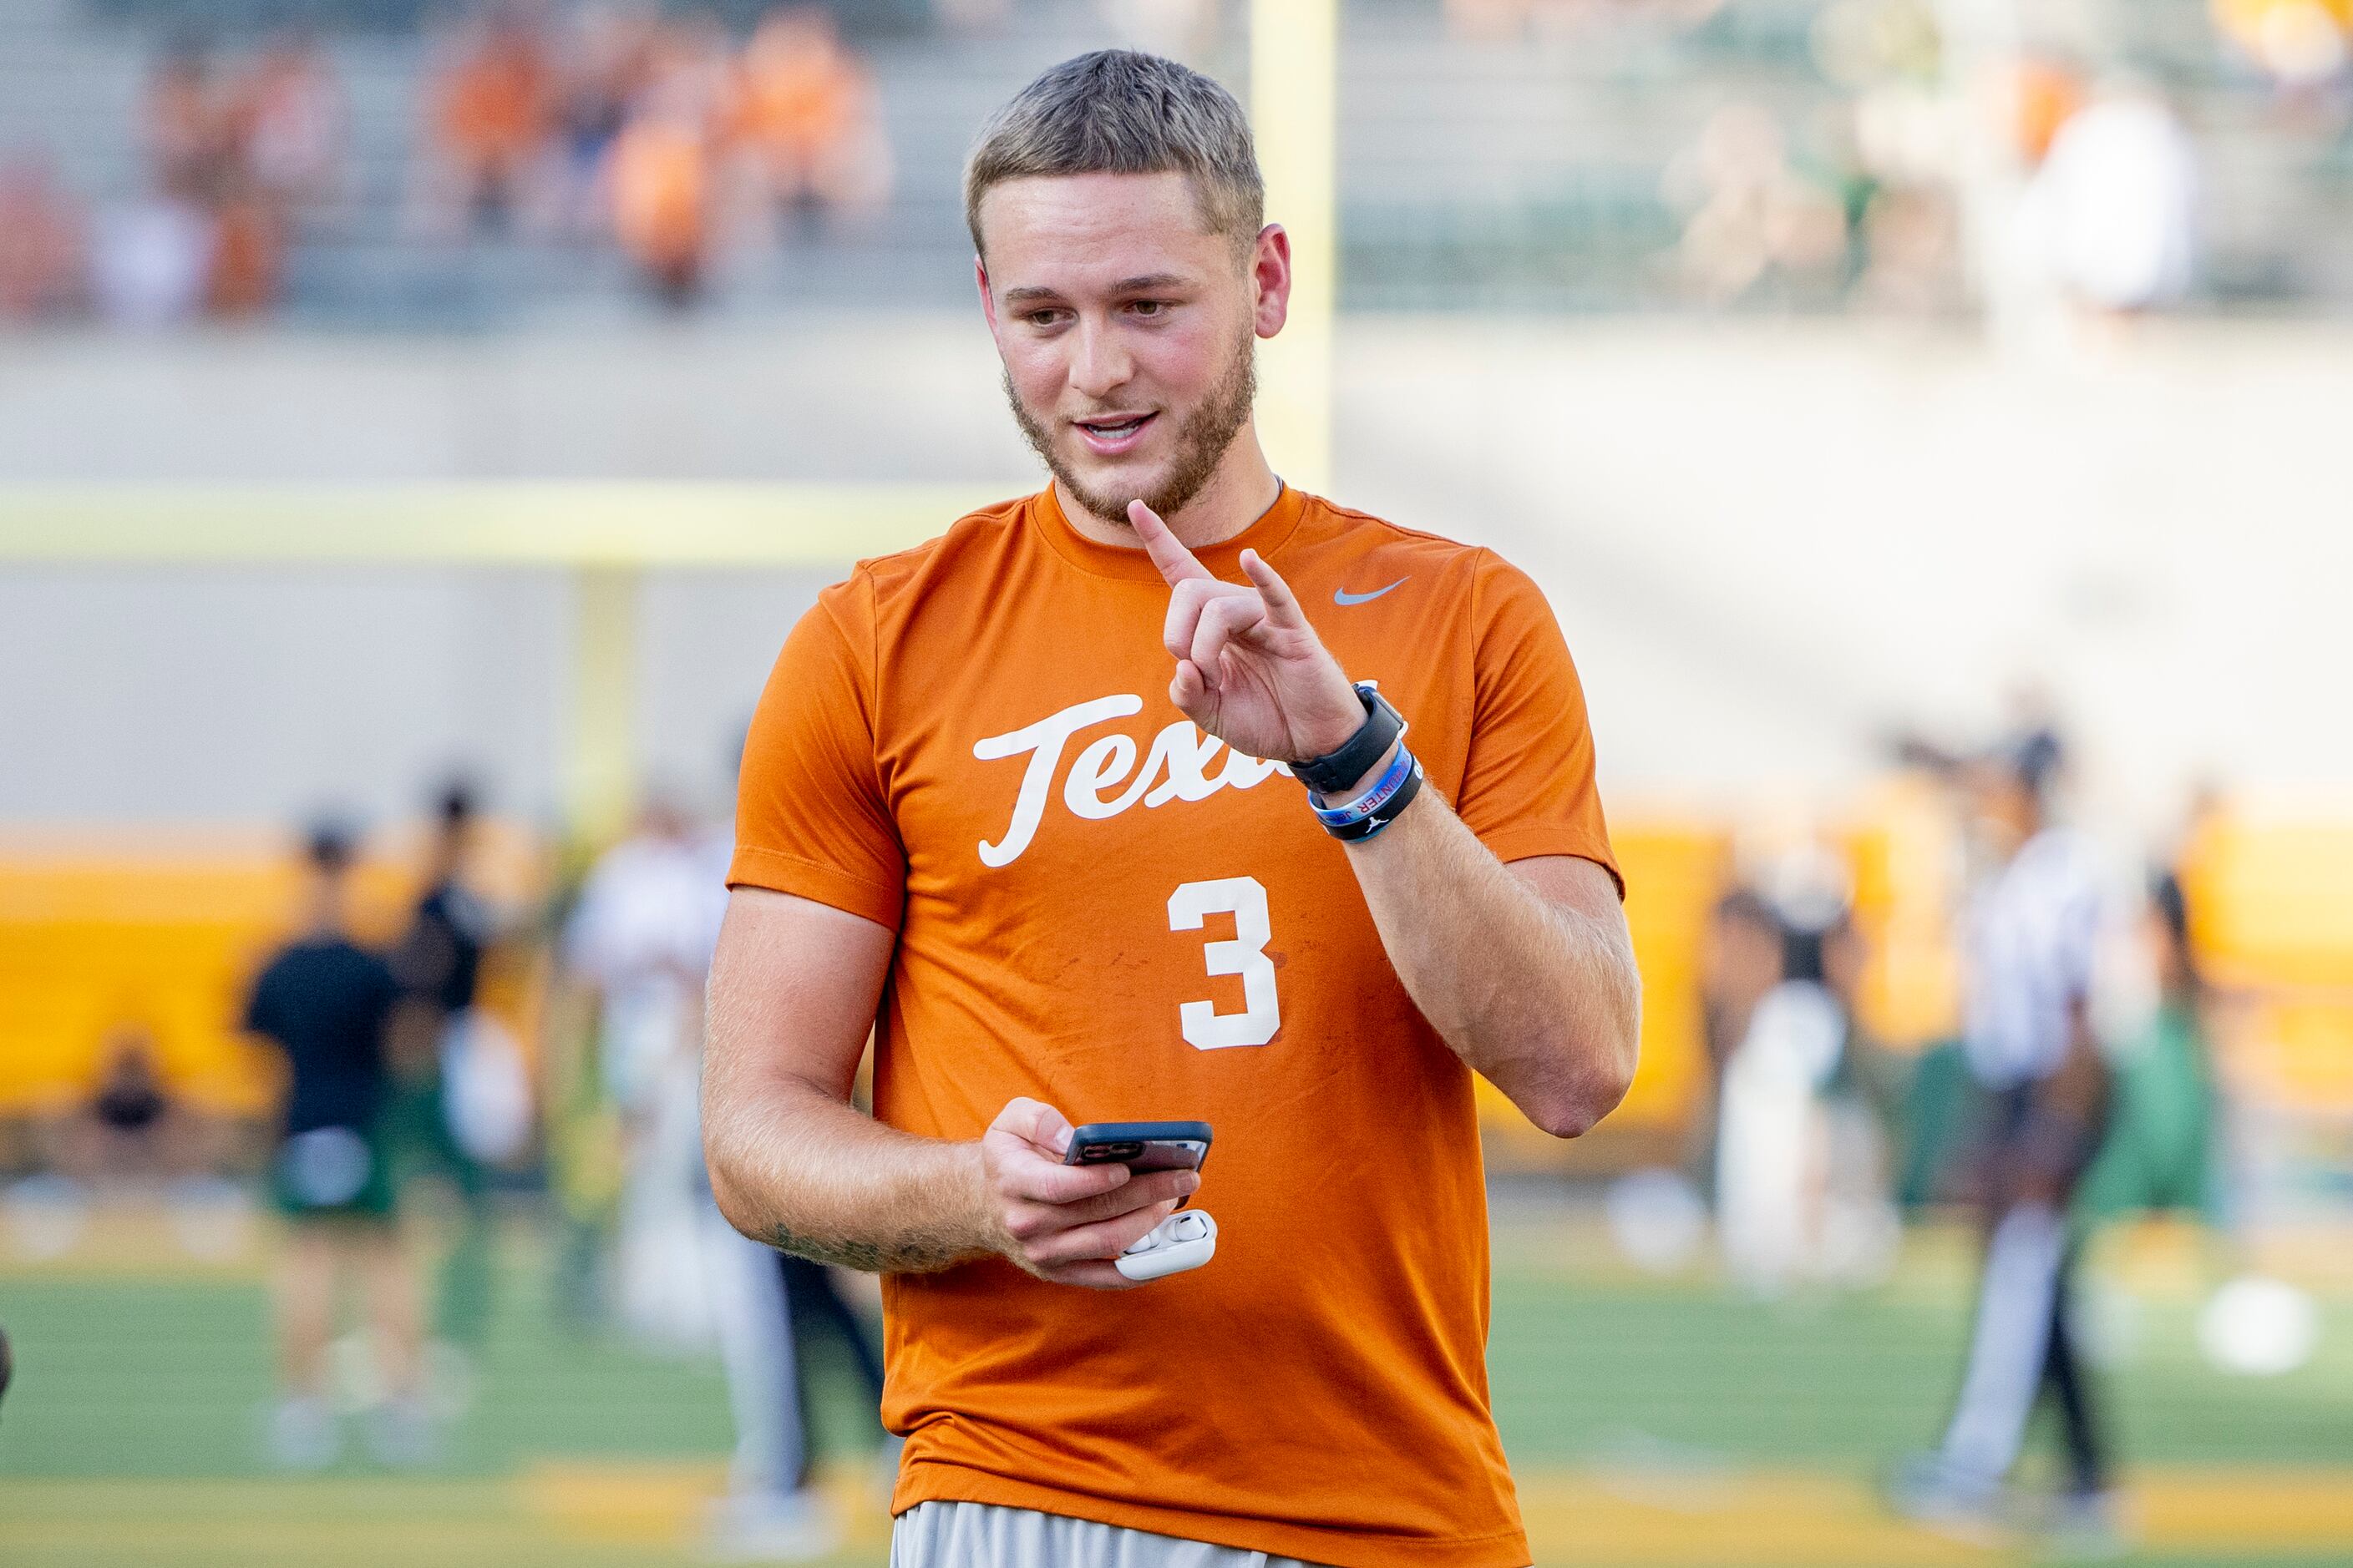
[[[2144,1269],[2146,1272],[2146,1269]],[[2125,1561],[2353,1563],[2353,1309],[2285,1378],[2212,1371],[2195,1265],[2108,1267],[2101,1338],[2137,1547]],[[1574,1218],[1499,1227],[1497,1415],[1541,1563],[2002,1563],[1892,1523],[1880,1467],[1932,1436],[1965,1319],[1958,1237],[1915,1237],[1861,1295],[1741,1300],[1657,1281]],[[266,1293],[231,1267],[0,1262],[16,1387],[0,1410],[0,1563],[692,1563],[727,1450],[715,1366],[555,1326],[541,1253],[511,1237],[478,1399],[416,1474],[259,1462]],[[840,1566],[880,1563],[871,1418],[835,1363],[819,1439]]]

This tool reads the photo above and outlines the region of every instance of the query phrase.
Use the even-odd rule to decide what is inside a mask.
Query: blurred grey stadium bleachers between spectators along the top
[[[722,7],[748,16],[755,0]],[[896,195],[824,244],[765,259],[729,299],[826,306],[960,306],[958,169],[981,118],[1042,63],[1115,42],[1087,0],[1028,0],[993,38],[915,33],[915,0],[838,7],[864,28]],[[1668,7],[1659,7],[1664,14]],[[426,63],[416,0],[12,0],[0,7],[0,150],[47,148],[96,205],[141,188],[141,73],[174,28],[224,42],[266,21],[329,31],[353,108],[353,179],[296,249],[294,320],[452,327],[609,310],[619,256],[574,244],[419,240],[405,226]],[[2111,7],[2118,47],[2188,101],[2212,179],[2207,284],[2221,299],[2353,294],[2353,158],[2315,146],[2235,71],[2200,0]],[[438,12],[435,12],[438,14]],[[1624,24],[1546,42],[1468,42],[1438,7],[1351,0],[1341,56],[1344,294],[1372,308],[1673,306],[1657,259],[1678,233],[1668,162],[1732,101],[1805,132],[1838,103],[1817,71],[1817,7],[1732,0],[1704,26]],[[1247,78],[1247,40],[1202,63]],[[1508,127],[1508,134],[1504,129]],[[1807,132],[1809,134],[1809,132]],[[2294,223],[2282,223],[2294,214]],[[1786,303],[1786,301],[1784,301]]]

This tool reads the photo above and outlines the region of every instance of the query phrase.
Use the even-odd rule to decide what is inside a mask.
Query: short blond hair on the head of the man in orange
[[[1184,174],[1202,223],[1247,254],[1266,221],[1249,120],[1200,71],[1136,49],[1054,66],[988,118],[965,160],[965,226],[981,244],[981,197],[1009,179]]]

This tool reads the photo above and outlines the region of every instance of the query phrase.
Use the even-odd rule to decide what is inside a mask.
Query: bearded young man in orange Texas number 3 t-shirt
[[[1268,468],[1292,256],[1221,87],[1056,66],[965,193],[1054,482],[784,646],[711,980],[718,1199],[887,1274],[901,1566],[1527,1563],[1471,1074],[1577,1135],[1638,1013],[1567,649],[1489,552]],[[1113,1119],[1209,1121],[1205,1185],[1061,1164]],[[1214,1260],[1122,1291],[1195,1187]]]

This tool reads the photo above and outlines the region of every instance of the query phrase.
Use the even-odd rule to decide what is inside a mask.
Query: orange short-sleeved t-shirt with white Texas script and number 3
[[[1527,576],[1294,489],[1198,555],[1240,581],[1245,545],[1379,679],[1487,849],[1612,865],[1584,693]],[[885,1279],[892,1509],[995,1502],[1344,1568],[1527,1563],[1487,1406],[1471,1072],[1304,790],[1174,710],[1165,614],[1144,552],[1085,538],[1047,489],[819,595],[753,719],[729,884],[899,933],[882,1121],[979,1138],[1033,1095],[1217,1133],[1198,1272]]]

